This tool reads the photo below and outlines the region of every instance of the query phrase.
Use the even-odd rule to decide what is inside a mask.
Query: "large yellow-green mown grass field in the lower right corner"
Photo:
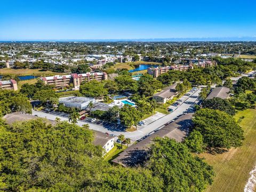
[[[206,191],[243,191],[250,177],[249,173],[256,164],[256,110],[238,111],[235,118],[242,119],[240,125],[245,137],[243,146],[232,148],[223,154],[199,155],[213,166],[216,173],[212,185]]]

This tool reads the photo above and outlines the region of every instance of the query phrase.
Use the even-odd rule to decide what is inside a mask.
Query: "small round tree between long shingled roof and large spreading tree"
[[[184,143],[193,153],[202,153],[205,148],[203,135],[196,130],[189,133],[189,136],[186,137]]]

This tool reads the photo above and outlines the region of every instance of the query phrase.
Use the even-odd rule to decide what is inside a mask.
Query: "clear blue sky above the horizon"
[[[0,40],[255,37],[256,1],[1,1]]]

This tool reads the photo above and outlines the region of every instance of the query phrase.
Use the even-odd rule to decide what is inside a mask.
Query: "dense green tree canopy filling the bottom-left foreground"
[[[93,132],[43,119],[5,125],[0,119],[0,190],[163,191],[147,169],[112,166],[94,146]]]

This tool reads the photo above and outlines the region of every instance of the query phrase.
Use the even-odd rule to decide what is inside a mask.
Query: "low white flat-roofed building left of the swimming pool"
[[[86,98],[86,97],[63,97],[59,99],[60,103],[63,103],[65,107],[74,107],[79,110],[86,109],[90,102],[95,103],[96,100],[94,98]]]

